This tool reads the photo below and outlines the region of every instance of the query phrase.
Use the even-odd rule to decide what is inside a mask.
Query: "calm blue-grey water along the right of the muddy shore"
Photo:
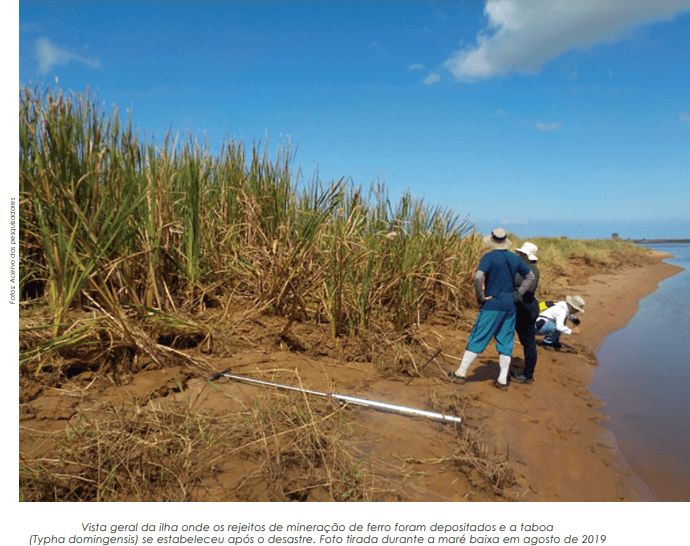
[[[642,500],[690,501],[690,245],[645,245],[685,268],[662,281],[597,351],[590,391],[644,482]]]

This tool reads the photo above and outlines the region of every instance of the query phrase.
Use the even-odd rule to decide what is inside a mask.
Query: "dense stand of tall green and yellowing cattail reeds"
[[[271,159],[228,139],[216,153],[189,136],[144,142],[133,126],[89,91],[21,92],[20,289],[53,336],[78,307],[145,327],[241,300],[340,336],[471,301],[481,244],[452,210],[304,181],[289,141]]]

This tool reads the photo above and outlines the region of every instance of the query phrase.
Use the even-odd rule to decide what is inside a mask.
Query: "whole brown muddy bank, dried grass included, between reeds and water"
[[[564,338],[572,352],[539,349],[535,383],[507,392],[491,386],[492,348],[465,385],[446,379],[474,311],[378,344],[333,340],[328,325],[295,323],[281,335],[284,319],[255,317],[238,322],[222,350],[188,350],[217,371],[461,415],[458,428],[227,379],[211,384],[183,364],[140,364],[118,378],[108,369],[25,378],[20,467],[41,471],[22,474],[22,488],[38,495],[59,482],[67,500],[639,500],[587,385],[604,337],[677,272],[664,257],[650,253],[643,267],[609,273],[573,264],[567,292],[587,301],[582,335]],[[522,365],[519,344],[514,365]],[[108,472],[123,477],[95,487],[108,475],[104,453],[119,457]],[[46,480],[48,468],[62,481]],[[82,475],[72,483],[70,473]],[[20,498],[33,497],[20,488]]]

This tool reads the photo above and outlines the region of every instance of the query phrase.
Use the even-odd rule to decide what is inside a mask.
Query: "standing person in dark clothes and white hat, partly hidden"
[[[511,370],[510,375],[513,381],[518,383],[532,383],[534,381],[534,368],[537,366],[537,342],[535,339],[536,327],[534,322],[539,316],[539,301],[534,296],[539,285],[539,268],[537,267],[537,245],[527,242],[518,248],[518,253],[522,261],[527,264],[534,273],[534,284],[522,296],[517,290],[522,284],[524,277],[518,273],[515,276],[515,331],[522,345],[525,355],[525,369],[522,372]]]

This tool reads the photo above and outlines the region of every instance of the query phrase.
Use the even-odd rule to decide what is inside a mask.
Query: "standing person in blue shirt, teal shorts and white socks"
[[[523,296],[534,284],[535,276],[517,254],[508,250],[511,242],[502,228],[496,228],[491,235],[484,237],[484,243],[492,250],[482,256],[474,277],[474,291],[481,309],[467,340],[460,367],[450,372],[448,377],[454,382],[465,383],[470,365],[486,349],[491,339],[496,338],[501,371],[493,384],[499,389],[507,389],[515,341],[513,282],[517,274],[522,275],[523,280],[517,291]]]

